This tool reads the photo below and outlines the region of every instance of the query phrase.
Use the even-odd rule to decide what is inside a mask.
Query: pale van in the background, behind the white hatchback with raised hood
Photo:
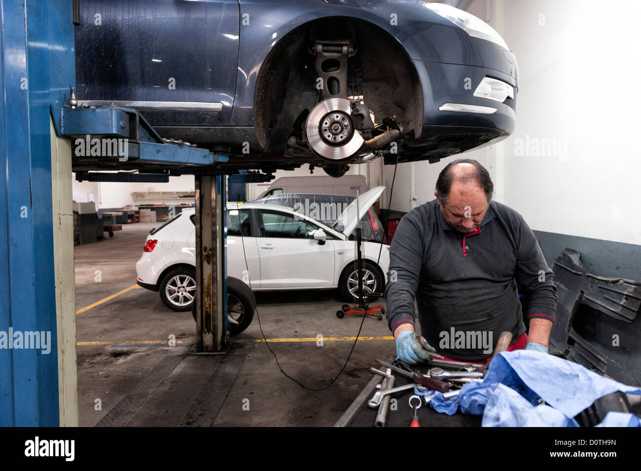
[[[356,198],[356,191],[363,194],[367,190],[369,188],[364,175],[343,175],[339,178],[313,175],[281,176],[276,178],[256,200],[281,193],[339,194]]]

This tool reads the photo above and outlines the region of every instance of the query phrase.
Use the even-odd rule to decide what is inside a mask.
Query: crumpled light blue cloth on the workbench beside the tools
[[[638,386],[613,381],[577,363],[515,350],[496,355],[483,382],[466,384],[460,395],[448,399],[436,393],[431,404],[449,415],[458,407],[467,414],[483,414],[485,427],[576,427],[574,416],[615,391],[641,394]],[[638,426],[634,415],[624,415],[627,419],[606,417],[602,426]]]

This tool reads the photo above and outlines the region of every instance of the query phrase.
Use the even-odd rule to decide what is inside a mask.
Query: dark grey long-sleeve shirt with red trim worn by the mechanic
[[[438,353],[485,359],[503,330],[513,339],[526,330],[517,284],[526,316],[554,321],[553,272],[518,212],[491,201],[476,232],[462,234],[449,227],[438,201],[429,201],[401,219],[392,239],[390,330],[414,322],[416,299],[422,336]]]

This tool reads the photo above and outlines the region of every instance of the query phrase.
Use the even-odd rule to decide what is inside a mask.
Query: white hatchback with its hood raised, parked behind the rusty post
[[[338,288],[345,300],[353,301],[358,276],[356,243],[349,234],[384,189],[363,193],[333,227],[283,206],[228,203],[228,276],[244,280],[253,291]],[[174,311],[190,310],[196,293],[195,218],[194,208],[183,209],[150,232],[136,263],[138,284],[159,291]],[[363,293],[380,296],[387,281],[389,246],[365,241],[362,257]]]

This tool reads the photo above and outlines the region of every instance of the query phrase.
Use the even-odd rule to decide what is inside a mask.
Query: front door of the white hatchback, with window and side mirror
[[[256,209],[256,214],[261,288],[333,286],[334,246],[314,239],[319,227],[287,212]]]

